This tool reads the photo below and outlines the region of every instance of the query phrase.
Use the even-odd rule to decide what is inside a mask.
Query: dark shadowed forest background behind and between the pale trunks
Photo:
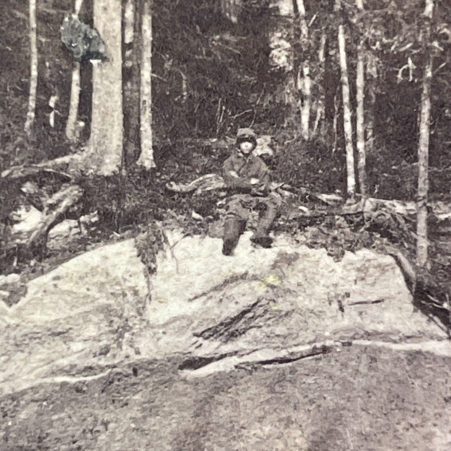
[[[233,136],[238,126],[253,124],[258,132],[274,135],[280,145],[277,152],[280,159],[296,166],[297,173],[290,174],[281,161],[279,177],[283,176],[289,183],[316,184],[323,191],[343,190],[345,143],[334,2],[305,2],[308,21],[314,19],[309,27],[309,41],[304,45],[307,48],[296,39],[299,27],[295,18],[281,17],[277,14],[277,5],[270,8],[265,1],[242,1],[237,21],[233,23],[226,15],[218,13],[217,3],[182,0],[167,5],[167,2],[154,2],[152,129],[159,166],[169,158],[168,153],[171,159],[179,159],[180,163],[189,161],[184,138]],[[350,99],[355,105],[359,24],[356,23],[354,4],[345,2],[344,5]],[[369,192],[377,193],[379,197],[391,197],[396,191],[396,198],[413,199],[415,169],[412,165],[417,158],[423,55],[415,44],[402,52],[391,51],[391,47],[395,44],[408,46],[418,36],[423,6],[422,2],[413,1],[372,1],[367,2],[366,9],[365,25],[371,23],[372,28],[365,30],[372,35],[368,37],[367,50],[371,52],[375,66],[374,79],[368,76],[371,83],[366,83],[367,115],[374,117],[375,140],[367,156]],[[69,111],[73,56],[60,41],[60,25],[64,14],[71,10],[69,1],[37,1],[37,116],[34,137],[27,140],[23,136],[23,124],[29,78],[28,2],[12,0],[1,5],[3,169],[11,164],[51,159],[71,151],[64,129]],[[436,12],[437,21],[446,23],[449,20],[446,2],[437,2]],[[92,25],[92,0],[83,1],[80,18]],[[137,27],[139,25],[135,23]],[[324,96],[324,119],[317,135],[308,144],[299,136],[297,105],[302,100],[302,93],[292,93],[293,98],[288,99],[291,103],[286,102],[285,85],[291,73],[283,65],[272,64],[270,58],[269,37],[277,28],[293,35],[288,37],[292,38],[289,42],[293,47],[294,66],[306,58],[310,60],[313,104]],[[327,34],[324,74],[320,74],[318,67],[322,32]],[[139,33],[136,34],[138,40]],[[442,172],[440,177],[431,177],[430,181],[431,193],[445,195],[449,194],[450,182],[449,171],[446,171],[451,141],[450,72],[446,65],[450,36],[442,33],[438,37],[443,51],[437,50],[434,60],[434,69],[438,71],[434,74],[432,88],[430,165],[433,170]],[[136,74],[135,67],[129,67],[128,50],[124,45],[124,148],[131,165],[139,154],[139,118],[133,115],[138,100],[136,90],[133,92],[130,87]],[[414,63],[412,78],[406,69],[399,79],[398,72],[408,58]],[[91,72],[91,64],[83,63],[78,112],[79,119],[86,124],[82,142],[90,132]],[[183,83],[186,83],[185,96]],[[58,96],[58,100],[55,126],[51,128],[49,115],[52,109],[48,102],[53,95]],[[314,108],[315,105],[312,121],[316,114]],[[336,137],[334,116],[338,122]],[[335,140],[336,152],[333,152]],[[322,173],[318,173],[319,170]]]

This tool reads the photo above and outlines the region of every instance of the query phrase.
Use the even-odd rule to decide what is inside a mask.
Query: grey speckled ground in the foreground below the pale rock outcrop
[[[342,347],[285,365],[184,379],[180,361],[0,399],[0,448],[447,451],[451,361]]]

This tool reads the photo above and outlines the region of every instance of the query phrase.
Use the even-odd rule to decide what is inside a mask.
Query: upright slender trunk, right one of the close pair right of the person
[[[363,12],[363,0],[356,0],[359,12]],[[357,80],[356,80],[356,133],[357,133],[357,171],[359,174],[360,194],[366,197],[368,194],[367,174],[366,174],[366,154],[365,154],[365,50],[363,38],[360,38],[357,47]]]

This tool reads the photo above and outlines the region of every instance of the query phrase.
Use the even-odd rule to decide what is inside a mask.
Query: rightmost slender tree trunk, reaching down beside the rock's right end
[[[426,46],[427,62],[423,73],[423,92],[421,94],[421,119],[418,145],[418,193],[417,193],[417,265],[426,267],[428,263],[428,190],[429,190],[429,121],[431,115],[431,83],[433,58],[429,50],[431,21],[434,1],[426,0],[424,16],[428,20]]]

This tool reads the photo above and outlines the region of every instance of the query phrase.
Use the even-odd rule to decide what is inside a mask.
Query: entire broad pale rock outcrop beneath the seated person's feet
[[[338,341],[446,336],[414,312],[389,256],[364,249],[334,262],[283,236],[254,249],[246,233],[225,257],[221,239],[168,235],[150,302],[144,266],[126,240],[64,263],[29,282],[18,304],[0,307],[0,391],[95,377],[123,359],[178,354],[183,374],[201,376],[300,359]]]

